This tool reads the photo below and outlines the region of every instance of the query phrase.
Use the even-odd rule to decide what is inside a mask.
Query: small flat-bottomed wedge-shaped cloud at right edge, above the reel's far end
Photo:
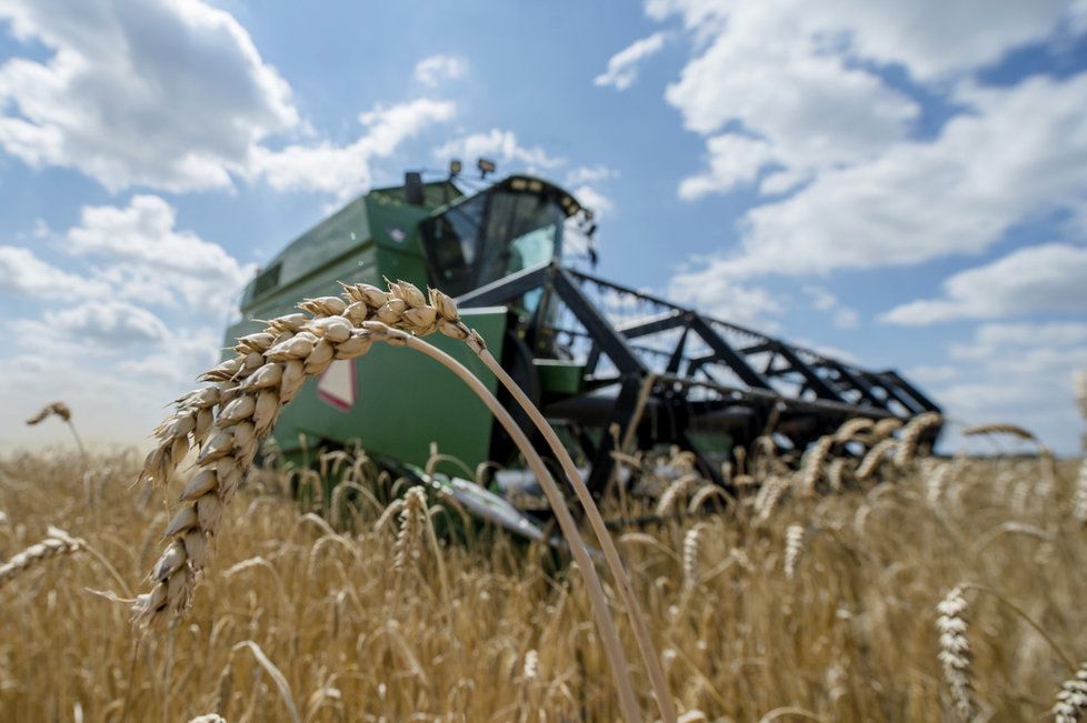
[[[951,319],[998,319],[1087,309],[1087,248],[1047,243],[960,271],[944,282],[943,299],[901,304],[881,320],[925,325]]]

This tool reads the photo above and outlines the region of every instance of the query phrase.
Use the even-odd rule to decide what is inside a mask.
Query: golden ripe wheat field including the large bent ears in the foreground
[[[1065,722],[1087,709],[1087,465],[1057,463],[1029,431],[964,430],[1034,449],[990,459],[933,458],[935,413],[849,420],[801,459],[764,436],[724,470],[738,498],[689,453],[619,455],[639,484],[601,516],[440,291],[355,284],[299,308],[239,339],[142,461],[89,454],[78,435],[78,453],[0,458],[0,720]],[[422,341],[436,332],[522,405],[585,530],[508,411]],[[302,381],[373,343],[430,355],[477,393],[562,544],[480,528],[361,451],[252,466]],[[31,423],[49,415],[76,434],[62,403]],[[302,506],[290,490],[315,481],[335,492]],[[612,535],[604,518],[642,522]]]

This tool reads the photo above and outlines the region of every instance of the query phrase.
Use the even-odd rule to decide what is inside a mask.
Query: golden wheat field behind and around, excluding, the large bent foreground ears
[[[565,555],[495,530],[450,540],[448,500],[420,490],[389,511],[403,483],[353,462],[327,471],[373,496],[338,495],[335,510],[299,509],[283,471],[252,474],[223,511],[191,611],[140,634],[129,605],[102,593],[143,586],[186,475],[169,491],[133,486],[130,452],[0,460],[0,559],[49,525],[80,541],[0,574],[0,720],[619,717]],[[941,666],[937,606],[960,584],[971,714],[1053,709],[1087,657],[1076,461],[918,456],[839,491],[820,479],[816,494],[802,473],[779,484],[775,461],[750,462],[742,481],[764,492],[712,513],[699,481],[622,500],[631,515],[668,505],[616,535],[685,721],[957,720],[964,690]],[[620,632],[649,720],[622,621]]]

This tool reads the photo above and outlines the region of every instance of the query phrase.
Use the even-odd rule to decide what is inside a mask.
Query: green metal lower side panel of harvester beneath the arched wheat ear
[[[501,357],[506,330],[502,308],[470,309],[465,321]],[[468,366],[495,391],[497,381],[461,342],[435,334],[427,341]],[[299,448],[299,433],[319,440],[359,441],[369,452],[423,465],[431,442],[470,466],[488,459],[492,418],[483,403],[438,362],[410,349],[376,344],[355,361],[356,399],[341,410],[318,395],[309,380],[285,408],[273,435],[285,452]]]

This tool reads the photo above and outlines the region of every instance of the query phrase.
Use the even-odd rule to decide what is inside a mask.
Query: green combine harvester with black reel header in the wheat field
[[[493,164],[479,168],[483,178]],[[338,293],[339,281],[437,287],[544,410],[596,494],[612,478],[617,448],[678,445],[727,484],[721,463],[761,434],[802,451],[850,418],[939,411],[892,370],[861,369],[588,273],[592,213],[549,181],[510,175],[466,194],[469,185],[455,161],[442,180],[409,172],[403,185],[351,201],[248,284],[247,321],[227,330],[227,347],[258,329],[251,320]],[[496,390],[462,344],[431,341]],[[531,435],[516,405],[499,399]],[[435,441],[472,468],[516,466],[509,438],[470,391],[429,359],[388,348],[307,382],[273,434],[288,458],[303,434],[308,446],[360,442],[409,469],[426,464]],[[546,458],[546,445],[540,451]],[[517,479],[506,473],[505,483]]]

